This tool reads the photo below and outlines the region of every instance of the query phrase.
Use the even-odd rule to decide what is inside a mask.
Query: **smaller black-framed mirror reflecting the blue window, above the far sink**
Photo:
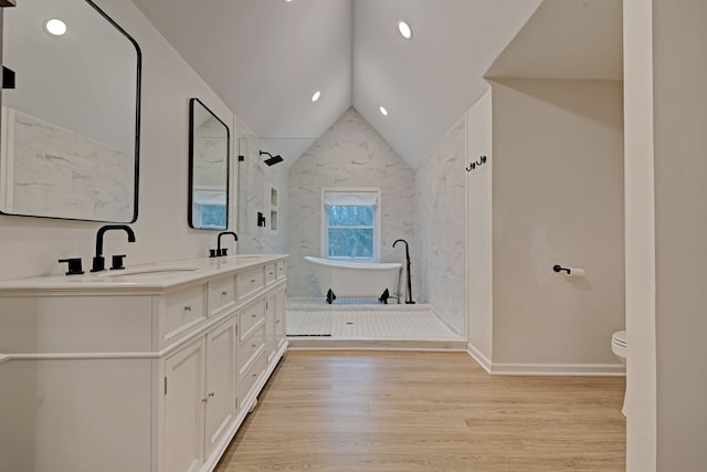
[[[189,101],[189,227],[229,227],[230,132],[199,98]]]

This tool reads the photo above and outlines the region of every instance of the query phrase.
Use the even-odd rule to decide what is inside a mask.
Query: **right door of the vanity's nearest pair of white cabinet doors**
[[[207,457],[235,417],[236,317],[207,333]]]

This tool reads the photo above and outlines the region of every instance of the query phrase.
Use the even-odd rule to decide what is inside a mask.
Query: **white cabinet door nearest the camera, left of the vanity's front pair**
[[[203,337],[165,360],[165,377],[161,470],[193,472],[203,462]]]

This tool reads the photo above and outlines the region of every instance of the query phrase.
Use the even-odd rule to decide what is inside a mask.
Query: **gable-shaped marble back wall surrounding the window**
[[[381,261],[404,263],[404,249],[392,248],[399,238],[414,248],[414,171],[349,108],[289,169],[288,296],[319,295],[303,258],[321,253],[323,187],[379,187]]]

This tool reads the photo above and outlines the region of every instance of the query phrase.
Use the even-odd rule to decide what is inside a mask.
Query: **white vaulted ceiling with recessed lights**
[[[606,51],[621,50],[621,0],[133,1],[258,136],[316,138],[354,106],[412,167],[486,92],[484,75],[531,17],[539,20],[527,41],[514,41],[489,72],[523,75],[521,64],[542,75],[579,57],[579,69],[605,69],[598,76],[610,78],[616,61]],[[581,35],[558,19],[584,23]],[[548,39],[558,28],[560,44]],[[612,65],[587,64],[588,54]],[[570,65],[552,73],[576,77]]]

